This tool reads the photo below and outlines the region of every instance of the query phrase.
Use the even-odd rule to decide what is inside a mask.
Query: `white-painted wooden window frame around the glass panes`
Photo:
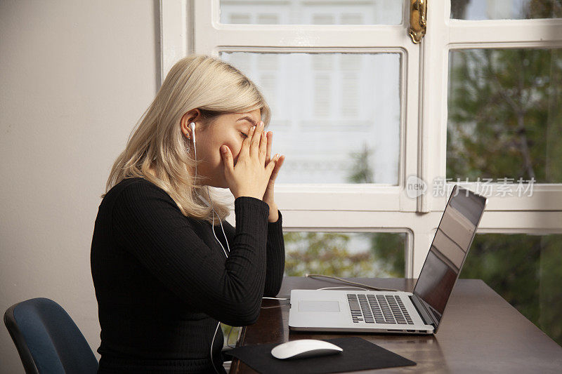
[[[401,54],[398,185],[278,184],[275,199],[286,231],[407,232],[407,277],[419,275],[446,202],[444,197],[431,196],[431,181],[445,177],[450,48],[562,46],[560,19],[450,20],[449,0],[429,3],[427,34],[417,45],[406,32],[407,0],[403,1],[402,24],[359,26],[225,25],[219,22],[219,3],[160,0],[162,81],[171,66],[189,53]],[[407,197],[405,184],[410,175],[428,182],[429,193],[417,199]],[[478,232],[562,233],[562,184],[535,184],[532,197],[491,197]]]

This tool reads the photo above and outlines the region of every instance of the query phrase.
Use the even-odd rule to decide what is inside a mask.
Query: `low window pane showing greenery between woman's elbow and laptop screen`
[[[285,275],[404,277],[405,232],[285,232]]]

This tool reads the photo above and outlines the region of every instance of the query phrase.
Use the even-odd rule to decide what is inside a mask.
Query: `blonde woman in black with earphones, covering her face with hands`
[[[259,89],[226,62],[190,55],[171,68],[96,218],[99,373],[223,373],[218,321],[254,323],[261,298],[278,293],[284,156],[270,156],[269,119]],[[209,186],[233,193],[235,228]]]

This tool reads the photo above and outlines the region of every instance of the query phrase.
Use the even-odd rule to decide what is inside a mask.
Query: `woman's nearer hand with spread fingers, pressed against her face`
[[[240,196],[263,199],[275,163],[279,159],[279,156],[276,156],[266,163],[267,144],[266,134],[263,133],[263,122],[260,121],[257,128],[252,127],[248,137],[242,142],[236,166],[230,149],[226,145],[221,146],[224,175],[235,199]]]

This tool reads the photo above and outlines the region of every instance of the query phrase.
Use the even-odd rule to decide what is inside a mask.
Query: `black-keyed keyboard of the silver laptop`
[[[398,323],[413,325],[404,303],[397,295],[365,295],[348,293],[353,323]]]

